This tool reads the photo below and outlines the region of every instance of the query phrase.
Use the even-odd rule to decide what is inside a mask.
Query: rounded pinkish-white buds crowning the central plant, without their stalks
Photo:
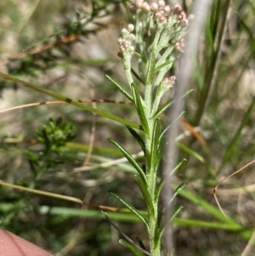
[[[184,43],[183,41],[173,40],[175,31],[181,32],[185,31],[185,28],[189,25],[189,20],[179,4],[176,4],[172,8],[165,3],[163,0],[159,0],[157,3],[146,3],[144,0],[136,0],[135,3],[129,6],[130,11],[134,14],[134,19],[136,26],[129,24],[127,29],[122,29],[122,36],[119,37],[117,42],[120,44],[120,51],[123,52],[134,52],[134,46],[132,43],[135,41],[135,33],[142,32],[141,36],[151,37],[155,35],[155,30],[161,26],[165,31],[172,27],[172,33],[169,33],[168,43],[176,44],[176,48],[183,51]],[[137,26],[138,25],[138,26]],[[161,34],[161,37],[165,35]],[[151,39],[151,38],[148,38]],[[151,42],[151,40],[149,40]],[[174,41],[174,42],[173,42]],[[137,43],[137,42],[136,42]],[[165,45],[164,45],[165,47]]]

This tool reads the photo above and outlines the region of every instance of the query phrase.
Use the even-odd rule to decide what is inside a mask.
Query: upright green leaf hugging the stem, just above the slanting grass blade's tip
[[[133,98],[134,98],[134,104],[136,106],[137,112],[139,114],[140,121],[142,123],[142,127],[144,129],[144,133],[150,136],[150,129],[147,122],[147,118],[144,113],[144,105],[142,104],[141,96],[139,94],[139,89],[137,87],[136,83],[131,84],[132,92],[133,92]]]

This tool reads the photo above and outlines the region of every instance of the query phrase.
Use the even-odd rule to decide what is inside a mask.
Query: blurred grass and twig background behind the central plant
[[[190,14],[192,1],[182,4]],[[71,99],[125,100],[104,75],[127,83],[116,43],[129,19],[126,5],[124,1],[2,1],[0,70]],[[224,219],[212,193],[220,180],[254,159],[254,14],[252,0],[213,1],[201,35],[189,84],[195,91],[185,98],[182,121],[183,133],[191,134],[178,141],[180,158],[187,161],[176,172],[174,185],[188,185],[176,202],[184,206],[173,226],[176,255],[255,253],[252,245],[246,247],[252,244],[255,224],[253,166],[218,188],[219,202],[230,220]],[[52,100],[3,79],[0,93],[0,111]],[[93,104],[138,121],[132,105]],[[59,117],[71,122],[75,138],[61,146],[60,154],[48,153],[41,159],[41,169],[33,168],[27,151],[40,156],[45,146],[38,141],[36,130],[47,125],[49,118]],[[122,157],[106,141],[108,137],[133,153],[139,151],[123,125],[66,104],[3,112],[0,123],[0,179],[75,196],[94,205],[122,207],[108,193],[111,190],[144,209],[133,169],[127,163],[99,166]],[[53,159],[51,166],[43,166]],[[73,172],[82,165],[93,168]],[[3,186],[0,190],[2,228],[58,255],[131,255],[117,243],[120,234],[98,210]],[[146,241],[144,226],[131,214],[109,216],[127,236]]]

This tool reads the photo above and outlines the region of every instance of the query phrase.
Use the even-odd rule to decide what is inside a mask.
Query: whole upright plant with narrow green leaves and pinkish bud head
[[[122,145],[113,139],[109,141],[122,151],[137,170],[134,179],[146,203],[147,216],[144,217],[121,196],[113,192],[111,194],[139,217],[146,227],[150,240],[148,251],[145,250],[142,242],[139,242],[138,246],[129,239],[121,240],[122,245],[131,249],[136,255],[159,256],[164,231],[161,218],[166,206],[159,206],[163,181],[159,177],[158,168],[165,145],[163,136],[167,130],[167,128],[161,128],[160,115],[173,102],[171,99],[161,105],[161,98],[170,88],[173,88],[175,83],[176,77],[169,77],[169,70],[174,60],[178,58],[179,52],[184,50],[184,35],[189,20],[180,5],[177,4],[171,8],[164,1],[149,4],[144,0],[136,0],[129,9],[133,14],[133,24],[128,24],[127,28],[122,29],[117,42],[120,46],[118,55],[122,58],[131,94],[111,77],[106,77],[128,100],[133,102],[139,115],[143,136],[133,128],[127,128],[144,151],[144,167],[140,167]],[[173,195],[176,194],[173,193]]]

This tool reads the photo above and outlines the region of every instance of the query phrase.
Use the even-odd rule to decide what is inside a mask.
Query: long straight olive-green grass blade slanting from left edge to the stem
[[[128,121],[128,120],[126,120],[126,119],[124,119],[122,117],[117,117],[115,115],[112,115],[111,113],[108,113],[106,111],[101,111],[101,110],[96,109],[94,107],[91,107],[89,105],[84,105],[84,104],[78,102],[77,100],[71,100],[68,97],[65,97],[65,96],[63,96],[61,94],[56,94],[56,93],[54,93],[52,91],[49,91],[49,90],[44,89],[44,88],[41,88],[41,87],[39,87],[39,86],[37,86],[35,84],[32,84],[30,82],[25,82],[25,81],[20,80],[18,78],[8,76],[7,74],[4,74],[2,72],[0,72],[0,77],[3,77],[3,79],[8,80],[8,81],[17,82],[18,84],[22,84],[26,88],[31,88],[31,89],[33,89],[33,90],[35,90],[37,92],[40,92],[42,94],[46,94],[48,96],[51,96],[54,99],[65,101],[66,103],[69,103],[71,105],[75,105],[75,106],[77,106],[77,107],[79,107],[79,108],[81,108],[81,109],[83,109],[85,111],[90,111],[90,112],[93,112],[93,113],[95,113],[95,114],[97,114],[99,116],[106,117],[106,118],[114,120],[116,122],[121,122],[123,124],[126,124],[129,127],[133,127],[133,128],[137,128],[137,129],[141,129],[142,130],[140,125],[135,123],[135,122]]]

